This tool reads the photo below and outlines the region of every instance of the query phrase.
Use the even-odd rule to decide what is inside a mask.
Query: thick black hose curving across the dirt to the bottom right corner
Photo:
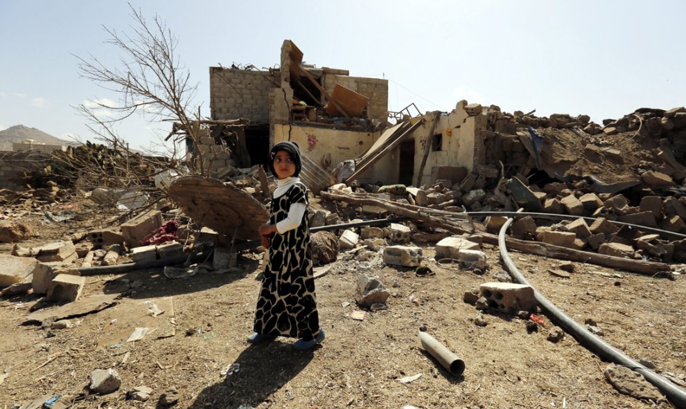
[[[540,308],[549,314],[550,320],[554,321],[562,329],[572,335],[583,347],[586,347],[590,352],[593,352],[597,356],[600,356],[605,361],[616,363],[618,365],[626,366],[636,372],[642,374],[647,381],[655,385],[656,388],[660,390],[671,403],[677,408],[686,408],[686,390],[679,388],[677,385],[669,381],[663,376],[656,374],[653,370],[637,363],[632,358],[629,358],[624,352],[619,351],[615,347],[612,347],[604,340],[601,340],[594,334],[592,334],[588,329],[582,327],[576,321],[572,320],[567,314],[565,314],[561,309],[556,307],[552,302],[547,300],[542,296],[534,287],[529,284],[527,279],[522,275],[522,273],[517,269],[517,266],[512,262],[509,254],[507,253],[507,247],[505,246],[505,231],[509,228],[513,219],[509,218],[502,225],[500,233],[498,233],[498,247],[500,248],[500,257],[504,262],[507,270],[514,280],[520,284],[525,284],[534,289],[534,296],[536,297],[536,302],[540,305]]]

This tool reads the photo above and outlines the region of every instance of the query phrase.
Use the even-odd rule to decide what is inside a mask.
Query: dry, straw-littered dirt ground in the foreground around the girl
[[[92,210],[92,209],[91,209]],[[79,222],[33,224],[45,244]],[[69,223],[72,223],[69,225]],[[82,223],[82,222],[81,222]],[[487,325],[462,298],[465,291],[493,281],[501,270],[498,249],[486,246],[490,269],[484,275],[457,264],[432,261],[432,245],[420,245],[435,275],[382,263],[380,255],[356,260],[344,255],[318,278],[317,302],[326,340],[297,352],[292,340],[277,338],[249,345],[258,295],[261,255],[243,253],[240,272],[198,274],[168,280],[161,269],[91,275],[84,296],[121,293],[114,307],[71,318],[73,327],[50,329],[25,324],[39,296],[0,300],[0,408],[25,404],[44,394],[78,397],[73,408],[155,408],[167,388],[179,392],[176,408],[671,408],[620,394],[606,381],[608,365],[571,336],[546,339],[552,324],[529,333],[519,318],[484,313]],[[0,251],[8,254],[10,244]],[[635,359],[647,358],[660,373],[686,373],[686,284],[576,264],[570,278],[547,271],[558,260],[511,253],[534,287],[578,322],[597,322],[604,338]],[[392,292],[385,311],[352,313],[358,273],[378,275]],[[173,316],[169,297],[173,300]],[[164,309],[146,316],[152,301]],[[49,307],[55,308],[55,307]],[[116,321],[115,321],[116,320]],[[126,342],[136,327],[150,332]],[[464,360],[462,376],[452,376],[423,352],[418,330]],[[175,334],[166,334],[170,327]],[[237,372],[222,376],[231,364]],[[89,374],[114,368],[123,383],[116,392],[89,394]],[[398,379],[421,374],[401,383]],[[128,400],[126,392],[146,385],[148,401]]]

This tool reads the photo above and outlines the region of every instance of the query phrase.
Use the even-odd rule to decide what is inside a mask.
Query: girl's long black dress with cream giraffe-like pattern
[[[295,183],[272,199],[270,224],[288,217],[292,203],[308,204],[307,188]],[[307,212],[297,228],[274,233],[257,300],[254,331],[312,340],[319,334]]]

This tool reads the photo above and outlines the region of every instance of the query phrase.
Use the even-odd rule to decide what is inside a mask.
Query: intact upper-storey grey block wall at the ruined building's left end
[[[213,120],[247,118],[269,122],[269,71],[251,71],[210,67],[210,111]]]

